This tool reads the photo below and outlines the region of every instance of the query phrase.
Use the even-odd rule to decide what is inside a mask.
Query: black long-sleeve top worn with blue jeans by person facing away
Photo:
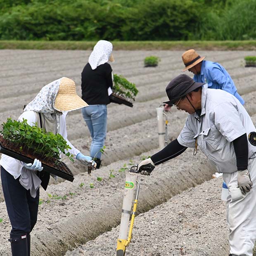
[[[89,63],[82,71],[82,99],[89,105],[109,104],[108,88],[113,87],[111,66],[106,62],[92,70]]]

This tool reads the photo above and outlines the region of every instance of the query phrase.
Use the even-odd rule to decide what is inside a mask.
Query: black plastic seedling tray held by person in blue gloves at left
[[[14,152],[6,147],[3,147],[0,143],[0,152],[2,154],[5,154],[7,156],[11,156],[15,159],[18,159],[26,164],[33,164],[33,161],[34,159],[32,159],[31,157],[28,157],[28,156],[25,156],[25,155],[22,155],[22,154],[19,154],[17,152]],[[42,162],[42,166],[43,166],[43,171],[46,171],[47,173],[52,173],[54,175],[57,175],[58,177],[60,178],[63,178],[65,180],[69,180],[69,181],[73,181],[74,180],[74,176],[73,176],[73,173],[70,171],[69,167],[66,166],[66,164],[62,161],[58,161],[58,166],[62,169],[64,169],[63,171],[62,170],[59,170],[57,168],[54,168],[52,166],[49,166],[45,163]]]

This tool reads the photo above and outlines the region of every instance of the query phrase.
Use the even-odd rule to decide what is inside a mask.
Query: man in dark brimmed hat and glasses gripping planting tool
[[[156,165],[182,154],[187,147],[194,148],[196,154],[199,146],[223,173],[229,188],[230,256],[252,256],[256,239],[256,128],[234,95],[202,85],[185,74],[167,85],[169,100],[164,103],[189,115],[178,138],[142,161],[138,169],[142,175],[150,175]]]

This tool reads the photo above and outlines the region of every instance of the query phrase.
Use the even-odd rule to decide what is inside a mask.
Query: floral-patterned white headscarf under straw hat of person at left
[[[36,95],[34,100],[26,105],[24,111],[32,110],[43,113],[47,119],[51,121],[57,120],[57,128],[59,128],[59,116],[62,115],[62,112],[55,110],[54,103],[61,80],[62,78],[59,78],[58,80],[45,85],[38,95]]]

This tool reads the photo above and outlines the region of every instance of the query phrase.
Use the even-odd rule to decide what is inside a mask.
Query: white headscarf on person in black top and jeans
[[[113,50],[113,45],[106,40],[100,40],[93,47],[93,51],[89,57],[89,64],[92,69],[96,69],[97,66],[100,66],[109,61],[110,55]]]

